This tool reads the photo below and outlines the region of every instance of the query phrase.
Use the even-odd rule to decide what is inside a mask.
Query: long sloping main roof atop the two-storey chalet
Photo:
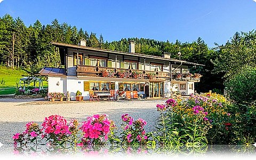
[[[57,42],[51,42],[51,44],[58,46],[58,47],[69,47],[73,49],[80,49],[80,50],[88,50],[88,51],[96,51],[96,52],[105,52],[105,53],[113,53],[113,54],[122,54],[122,55],[130,55],[134,57],[143,57],[143,58],[149,58],[149,59],[157,59],[157,60],[166,60],[170,62],[178,62],[178,63],[185,63],[188,65],[193,66],[205,66],[194,62],[187,62],[183,60],[177,60],[177,59],[170,59],[170,58],[164,58],[164,57],[158,57],[155,55],[146,55],[146,54],[140,54],[140,53],[129,53],[129,52],[121,52],[121,51],[111,51],[111,50],[104,50],[104,49],[97,49],[87,46],[80,46],[80,45],[74,45],[74,44],[65,44],[65,43],[57,43]]]

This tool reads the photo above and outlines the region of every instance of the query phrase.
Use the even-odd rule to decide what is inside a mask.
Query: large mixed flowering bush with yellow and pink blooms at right
[[[185,145],[194,146],[198,142],[206,145],[255,141],[243,131],[246,130],[246,125],[242,125],[245,119],[241,117],[239,108],[223,95],[191,94],[187,99],[170,99],[156,107],[161,115],[158,124],[161,127],[155,133],[161,135],[161,138],[158,137],[159,143],[186,142]]]

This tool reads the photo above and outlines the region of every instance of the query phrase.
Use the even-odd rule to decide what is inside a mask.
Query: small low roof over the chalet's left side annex
[[[66,76],[64,68],[44,67],[39,71],[42,76]]]

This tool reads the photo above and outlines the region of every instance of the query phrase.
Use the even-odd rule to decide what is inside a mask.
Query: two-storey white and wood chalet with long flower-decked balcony
[[[138,91],[147,97],[171,97],[179,91],[182,95],[194,93],[198,75],[189,74],[189,68],[203,66],[197,63],[134,53],[135,43],[130,42],[129,52],[95,49],[83,45],[52,43],[60,52],[65,68],[44,67],[39,74],[48,77],[49,92],[70,93],[75,99],[77,91],[84,100],[89,90],[108,93],[110,90]]]

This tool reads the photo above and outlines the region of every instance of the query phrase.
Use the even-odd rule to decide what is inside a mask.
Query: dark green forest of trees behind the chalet
[[[225,83],[235,75],[243,73],[247,68],[255,68],[256,64],[256,32],[234,33],[226,44],[215,44],[210,48],[201,37],[193,42],[157,41],[147,38],[122,38],[119,41],[105,41],[103,35],[88,33],[83,28],[59,23],[54,19],[51,24],[43,25],[39,20],[28,27],[20,17],[13,18],[6,14],[0,17],[0,63],[10,68],[24,68],[37,73],[44,66],[62,67],[60,57],[50,42],[78,44],[80,39],[86,45],[106,50],[128,52],[129,41],[135,41],[135,52],[158,55],[162,52],[173,53],[177,58],[201,63],[205,67],[194,68],[191,72],[203,75],[201,82],[196,84],[197,92],[223,93]]]

